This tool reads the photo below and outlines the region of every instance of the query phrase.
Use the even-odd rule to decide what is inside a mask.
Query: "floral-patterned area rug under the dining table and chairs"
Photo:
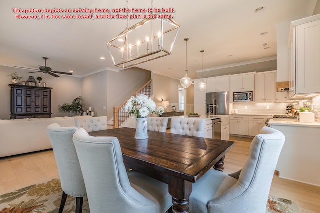
[[[0,195],[0,213],[57,213],[62,197],[59,179],[31,185]],[[75,198],[68,196],[63,213],[75,212]],[[83,199],[82,213],[89,213],[87,198]],[[298,213],[291,200],[269,196],[266,213]]]

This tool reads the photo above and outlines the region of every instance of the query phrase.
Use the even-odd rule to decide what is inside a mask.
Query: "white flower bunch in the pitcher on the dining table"
[[[133,118],[147,118],[155,110],[155,103],[144,94],[131,96],[124,106],[124,110]]]

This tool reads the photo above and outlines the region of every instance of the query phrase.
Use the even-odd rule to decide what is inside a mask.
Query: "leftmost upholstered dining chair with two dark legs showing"
[[[77,127],[61,127],[57,123],[50,124],[46,129],[52,144],[62,188],[59,213],[63,211],[67,195],[76,197],[75,212],[81,213],[83,196],[86,196],[82,171],[72,140],[73,133],[77,129]]]

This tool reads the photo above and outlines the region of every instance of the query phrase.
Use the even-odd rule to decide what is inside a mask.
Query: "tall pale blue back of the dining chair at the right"
[[[226,213],[236,208],[239,213],[264,213],[284,141],[285,136],[280,131],[263,127],[252,140],[249,156],[238,181],[209,202],[209,212]]]

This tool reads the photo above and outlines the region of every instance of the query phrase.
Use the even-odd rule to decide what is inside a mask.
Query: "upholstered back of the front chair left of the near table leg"
[[[73,135],[73,142],[79,156],[90,213],[158,212],[154,201],[131,187],[116,137],[89,136],[84,129],[79,129]]]

